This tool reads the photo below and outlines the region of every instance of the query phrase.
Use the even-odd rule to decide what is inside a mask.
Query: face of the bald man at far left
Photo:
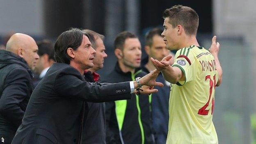
[[[23,48],[22,57],[27,62],[28,67],[32,70],[34,70],[34,67],[37,64],[37,59],[39,59],[37,51],[38,47],[35,41],[27,44],[27,48]]]

